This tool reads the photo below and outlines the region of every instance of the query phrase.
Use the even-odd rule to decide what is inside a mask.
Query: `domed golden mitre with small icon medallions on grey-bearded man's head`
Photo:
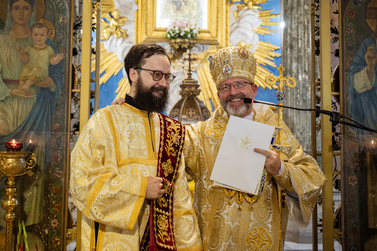
[[[254,83],[257,61],[254,54],[244,47],[228,46],[211,56],[210,71],[216,87],[230,78],[245,78]]]

